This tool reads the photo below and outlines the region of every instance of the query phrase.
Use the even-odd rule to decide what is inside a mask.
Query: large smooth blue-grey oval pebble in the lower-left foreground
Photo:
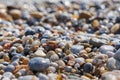
[[[44,59],[41,57],[35,57],[29,61],[29,68],[32,71],[44,71],[49,67],[49,65],[49,59]]]

